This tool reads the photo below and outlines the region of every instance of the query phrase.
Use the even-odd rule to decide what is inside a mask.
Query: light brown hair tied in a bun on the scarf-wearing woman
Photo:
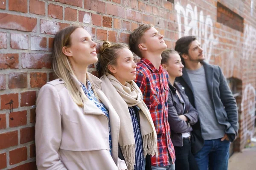
[[[116,59],[118,57],[118,53],[121,49],[128,48],[129,46],[126,44],[114,44],[111,45],[111,42],[104,41],[102,46],[99,49],[100,57],[99,61],[96,65],[96,69],[98,71],[98,76],[102,77],[105,73],[111,73],[108,70],[108,65],[116,65]]]

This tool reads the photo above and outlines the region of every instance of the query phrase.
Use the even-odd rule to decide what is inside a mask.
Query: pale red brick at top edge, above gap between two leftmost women
[[[84,0],[84,8],[105,13],[106,3],[99,0]]]

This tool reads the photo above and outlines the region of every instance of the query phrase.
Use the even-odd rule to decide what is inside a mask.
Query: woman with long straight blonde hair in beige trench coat
[[[119,117],[87,72],[97,62],[96,43],[79,26],[59,31],[52,68],[58,79],[39,93],[35,144],[38,170],[127,169],[118,158]]]

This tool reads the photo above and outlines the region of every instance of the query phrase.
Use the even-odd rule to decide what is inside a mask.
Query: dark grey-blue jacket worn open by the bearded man
[[[238,111],[236,99],[230,91],[221,68],[217,65],[210,65],[206,62],[201,63],[204,66],[207,88],[218,123],[226,127],[225,133],[227,133],[230,142],[233,142],[238,132]],[[183,76],[177,77],[176,80],[183,85],[190,103],[195,107],[194,91],[185,68],[183,68]],[[196,153],[204,145],[200,120],[193,126],[193,134],[194,139],[192,139],[192,153]]]

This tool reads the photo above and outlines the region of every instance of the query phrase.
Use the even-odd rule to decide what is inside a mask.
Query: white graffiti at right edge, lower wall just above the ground
[[[247,136],[250,136],[250,139],[253,138],[254,133],[254,120],[255,120],[255,101],[256,91],[253,88],[253,85],[248,84],[245,86],[244,93],[242,96],[241,102],[241,120],[246,120],[242,123],[242,129],[244,132],[244,141],[246,141]],[[247,117],[250,117],[248,119]],[[252,126],[252,127],[250,127]]]

